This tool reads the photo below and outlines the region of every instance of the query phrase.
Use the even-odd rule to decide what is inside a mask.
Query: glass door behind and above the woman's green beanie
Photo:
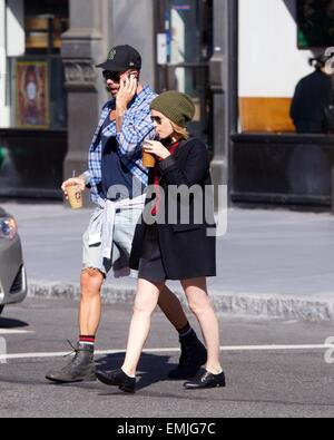
[[[190,131],[212,146],[213,0],[158,0],[156,23],[158,91],[178,90],[193,98]]]

